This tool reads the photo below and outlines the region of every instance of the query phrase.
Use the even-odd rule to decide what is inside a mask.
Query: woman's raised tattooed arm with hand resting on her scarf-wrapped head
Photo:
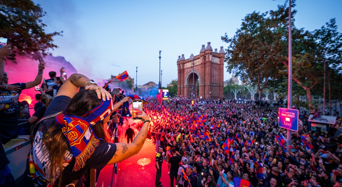
[[[73,74],[71,75],[61,86],[61,88],[57,92],[57,96],[65,95],[68,97],[73,98],[74,95],[78,92],[78,89],[80,87],[84,87],[86,90],[95,90],[97,97],[99,99],[102,99],[103,101],[109,100],[111,98],[111,95],[101,86],[96,86],[95,84],[91,84],[87,86],[87,83],[90,81],[90,79],[82,74]],[[98,89],[97,89],[98,88]]]

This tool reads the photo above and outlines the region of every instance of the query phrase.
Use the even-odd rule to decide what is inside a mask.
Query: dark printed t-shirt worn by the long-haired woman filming
[[[47,108],[44,117],[63,111],[70,100],[70,97],[64,95],[57,96]],[[58,174],[56,176],[49,176],[50,161],[49,157],[43,154],[42,147],[44,145],[41,144],[42,136],[50,125],[54,125],[54,121],[54,118],[43,120],[39,126],[33,140],[31,151],[28,155],[26,170],[21,180],[22,186],[45,187],[52,184],[45,182],[49,179],[55,183],[54,186],[58,185]],[[63,161],[64,170],[62,186],[66,186],[73,180],[80,179],[88,169],[103,169],[110,159],[113,158],[115,152],[116,144],[101,141],[92,156],[86,161],[86,165],[79,171],[74,172],[75,158],[73,153],[67,150]],[[39,181],[44,182],[41,183]]]

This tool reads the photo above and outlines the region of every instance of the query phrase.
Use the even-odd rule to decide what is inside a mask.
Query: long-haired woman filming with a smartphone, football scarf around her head
[[[85,90],[79,90],[85,87]],[[129,97],[113,105],[111,95],[84,75],[73,74],[51,102],[29,152],[22,186],[77,184],[88,169],[127,159],[140,151],[148,131],[149,117],[131,144],[110,143],[104,124]]]

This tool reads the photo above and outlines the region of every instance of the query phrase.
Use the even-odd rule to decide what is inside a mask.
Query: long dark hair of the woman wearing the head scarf
[[[92,108],[96,107],[101,103],[101,99],[98,99],[97,94],[94,90],[80,90],[71,100],[64,113],[67,115],[73,115],[82,117],[84,113],[90,112]],[[56,115],[58,115],[57,113]],[[50,122],[47,132],[43,135],[42,142],[45,143],[43,146],[44,154],[48,154],[51,165],[49,171],[47,171],[47,176],[56,175],[58,168],[60,169],[60,175],[58,176],[58,186],[60,187],[62,183],[63,176],[63,160],[64,155],[67,150],[70,150],[70,146],[67,142],[66,137],[62,133],[59,125],[55,123],[54,117],[48,116],[42,120],[42,122]],[[49,120],[49,121],[47,121]],[[110,141],[110,136],[107,131],[104,130],[103,121],[92,126],[94,134],[98,138],[104,139],[106,142]]]

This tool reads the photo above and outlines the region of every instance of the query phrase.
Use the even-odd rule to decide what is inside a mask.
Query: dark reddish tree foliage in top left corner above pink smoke
[[[46,14],[39,4],[31,0],[0,0],[0,36],[9,38],[12,54],[9,59],[15,62],[17,55],[38,59],[57,48],[53,37],[61,32],[45,33],[41,18]]]

